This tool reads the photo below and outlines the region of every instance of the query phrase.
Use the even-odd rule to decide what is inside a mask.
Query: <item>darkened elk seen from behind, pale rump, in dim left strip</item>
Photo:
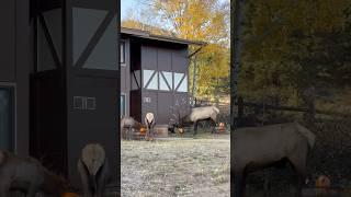
[[[103,197],[110,176],[107,158],[101,144],[89,143],[82,149],[78,172],[84,197]]]

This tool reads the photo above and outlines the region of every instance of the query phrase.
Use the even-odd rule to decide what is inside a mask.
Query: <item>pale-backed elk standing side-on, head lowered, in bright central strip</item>
[[[185,126],[193,126],[194,136],[197,134],[197,125],[200,121],[210,120],[213,124],[212,134],[216,129],[216,119],[219,114],[219,109],[215,106],[202,106],[192,108],[191,113],[186,116],[179,118],[179,123],[174,126],[183,128]]]

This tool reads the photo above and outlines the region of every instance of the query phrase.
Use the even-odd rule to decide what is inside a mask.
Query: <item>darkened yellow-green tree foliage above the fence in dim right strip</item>
[[[347,8],[348,0],[248,0],[240,94],[298,104],[308,86],[346,78],[350,67],[338,55],[349,51]]]

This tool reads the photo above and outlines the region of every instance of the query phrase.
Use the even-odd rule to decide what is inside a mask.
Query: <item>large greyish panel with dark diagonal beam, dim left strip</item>
[[[75,7],[72,14],[73,66],[83,69],[118,70],[117,18],[107,10]],[[58,24],[58,23],[56,23]]]

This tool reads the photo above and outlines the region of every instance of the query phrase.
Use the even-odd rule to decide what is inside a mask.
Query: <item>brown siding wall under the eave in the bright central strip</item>
[[[160,89],[160,81],[163,80],[161,77],[162,71],[172,74],[183,73],[188,76],[188,68],[186,45],[183,45],[183,47],[178,46],[177,48],[156,44],[141,46],[141,69],[156,71],[157,73],[155,73],[154,78],[158,83],[157,90],[149,90],[148,86],[145,88],[145,84],[143,84],[141,117],[145,117],[146,113],[152,112],[156,115],[156,123],[163,125],[169,124],[170,119],[180,113],[179,109],[184,111],[184,113],[181,114],[188,112],[190,107],[188,92],[178,92],[173,83],[170,84],[170,90]],[[184,80],[186,81],[186,86],[189,86],[189,78]],[[141,81],[144,82],[144,79]],[[174,81],[174,76],[172,76],[172,81]]]

